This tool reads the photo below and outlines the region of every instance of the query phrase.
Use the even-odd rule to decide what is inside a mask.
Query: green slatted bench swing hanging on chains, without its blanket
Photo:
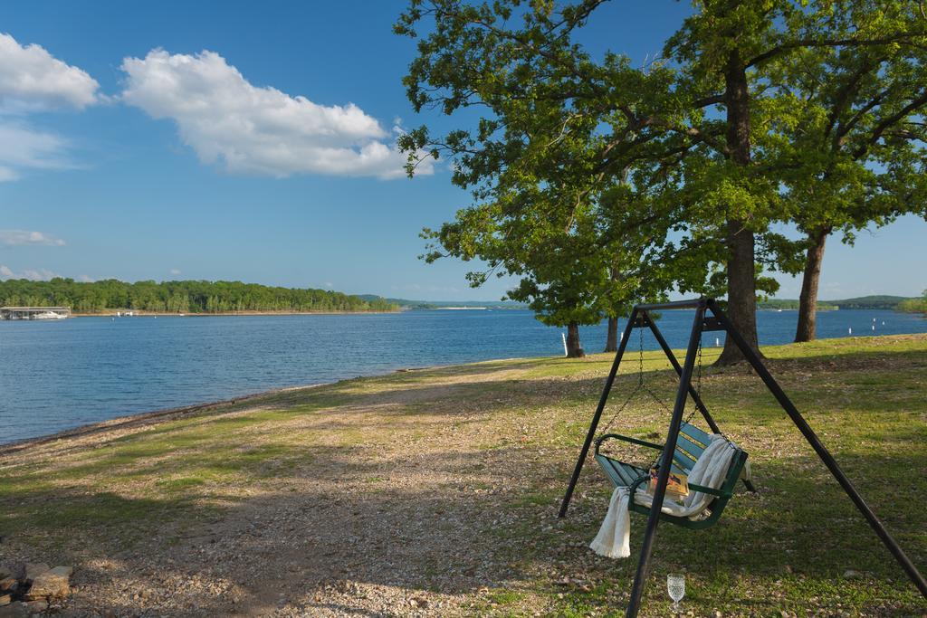
[[[649,322],[649,318],[644,318],[644,320]],[[653,327],[655,328],[655,324]],[[640,343],[638,347],[637,385],[635,385],[635,387],[631,390],[624,403],[622,403],[621,406],[616,410],[615,414],[612,416],[612,419],[608,423],[605,423],[605,426],[602,428],[602,432],[606,433],[603,433],[603,435],[600,435],[598,438],[596,438],[594,451],[594,459],[602,468],[603,472],[608,477],[608,480],[612,482],[612,485],[616,487],[627,487],[631,497],[638,497],[638,488],[641,486],[646,486],[650,481],[651,469],[656,468],[659,470],[659,468],[662,467],[664,445],[655,444],[654,442],[641,440],[640,438],[631,437],[629,435],[609,434],[607,431],[609,427],[611,427],[616,422],[621,413],[628,408],[634,397],[636,397],[637,394],[641,391],[653,399],[661,408],[663,408],[663,410],[669,412],[670,415],[672,414],[672,410],[669,410],[663,399],[658,397],[644,381],[643,329],[641,328],[638,332],[640,334]],[[701,337],[699,338],[698,360],[696,367],[698,372],[695,388],[691,396],[695,401],[701,403]],[[711,444],[712,435],[692,424],[692,417],[698,410],[698,406],[693,408],[689,416],[679,424],[679,436],[676,438],[676,448],[673,449],[670,468],[673,473],[685,474],[686,476],[689,476],[692,473],[692,468],[695,466],[695,463],[705,452],[705,448]],[[705,410],[705,412],[707,412],[707,410]],[[710,424],[717,427],[717,424],[714,423],[714,420],[712,420]],[[721,434],[716,432],[716,435]],[[710,497],[710,499],[700,500],[699,503],[703,504],[704,506],[690,515],[679,516],[668,513],[666,511],[660,511],[660,519],[662,521],[672,523],[674,525],[679,525],[684,528],[690,528],[692,530],[701,530],[713,526],[720,519],[721,514],[724,512],[724,508],[727,506],[730,498],[733,496],[734,486],[737,484],[738,478],[740,478],[744,473],[744,467],[747,461],[747,453],[744,452],[742,448],[738,447],[724,435],[721,435],[721,439],[724,439],[727,446],[733,449],[734,452],[730,457],[730,466],[728,468],[728,472],[725,474],[720,485],[717,487],[709,487],[697,485],[695,483],[688,484],[690,492],[704,494],[705,496]],[[638,447],[650,448],[655,450],[657,455],[651,464],[647,467],[641,467],[624,460],[617,460],[603,452],[603,445],[611,444],[613,442],[624,442],[627,444],[636,445]],[[743,482],[751,491],[755,491],[753,485],[750,482],[749,475],[743,478]],[[649,504],[641,503],[640,499],[629,499],[628,508],[629,511],[647,515],[650,514],[651,507]]]

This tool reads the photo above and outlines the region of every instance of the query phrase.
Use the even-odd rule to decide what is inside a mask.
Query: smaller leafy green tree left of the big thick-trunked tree
[[[603,316],[615,323],[635,299],[659,296],[657,279],[640,272],[646,241],[634,244],[634,234],[615,240],[609,233],[614,213],[623,212],[612,203],[629,199],[629,188],[608,189],[601,175],[589,176],[584,186],[579,164],[563,166],[565,173],[551,173],[543,183],[531,176],[513,181],[516,168],[505,170],[491,199],[460,210],[436,231],[425,230],[431,241],[425,259],[482,260],[467,274],[473,285],[492,274],[516,277],[507,296],[526,302],[541,322],[566,326],[567,356],[582,356],[579,325]]]

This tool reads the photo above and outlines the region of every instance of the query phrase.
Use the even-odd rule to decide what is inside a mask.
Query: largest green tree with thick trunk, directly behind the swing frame
[[[454,158],[454,182],[479,199],[513,167],[549,182],[572,164],[550,146],[584,143],[590,171],[614,183],[630,170],[635,193],[659,205],[654,210],[664,221],[637,223],[675,234],[653,234],[661,255],[672,260],[659,263],[678,268],[672,286],[726,293],[731,322],[758,352],[757,282],[769,282],[758,277],[764,266],[794,267],[790,250],[781,253],[781,238],[768,232],[771,223],[790,220],[794,205],[783,195],[775,147],[781,138],[772,131],[774,120],[788,119],[792,110],[779,105],[769,68],[806,50],[922,44],[915,6],[695,2],[692,17],[667,42],[671,62],[634,69],[613,54],[594,60],[575,41],[602,4],[412,0],[397,31],[417,36],[427,21],[405,79],[414,107],[449,115],[474,108],[482,120],[443,136],[422,128],[403,146]],[[886,10],[890,19],[881,18]],[[821,77],[831,79],[826,71]],[[739,359],[729,338],[719,362]]]

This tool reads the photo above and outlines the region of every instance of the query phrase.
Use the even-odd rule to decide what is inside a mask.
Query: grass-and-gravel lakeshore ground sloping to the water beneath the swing
[[[905,505],[927,491],[927,337],[846,342],[821,348],[839,359],[790,347],[774,373],[923,564]],[[61,616],[623,615],[634,561],[586,547],[610,491],[594,465],[556,518],[608,360],[400,372],[0,449],[0,563],[73,566]],[[672,397],[671,372],[648,379]],[[671,615],[680,570],[684,615],[927,616],[756,376],[707,372],[705,390],[759,492],[707,533],[661,526],[641,616]],[[666,417],[644,397],[613,429],[659,435]]]

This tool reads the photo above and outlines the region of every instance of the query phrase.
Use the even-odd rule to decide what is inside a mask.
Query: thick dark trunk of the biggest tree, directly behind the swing
[[[725,136],[730,160],[739,166],[750,165],[750,92],[746,69],[740,52],[733,50],[725,69],[725,105],[728,131]],[[733,208],[734,205],[730,205]],[[756,246],[754,233],[746,221],[733,213],[728,216],[725,240],[728,246],[728,317],[747,345],[760,354],[756,337]],[[726,337],[718,365],[743,360],[732,337]]]

